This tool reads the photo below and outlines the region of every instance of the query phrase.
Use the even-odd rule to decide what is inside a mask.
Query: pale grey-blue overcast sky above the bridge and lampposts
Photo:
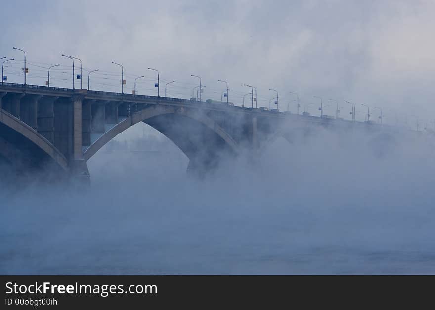
[[[190,98],[197,80],[206,85],[203,98],[220,100],[229,83],[229,99],[240,105],[243,84],[257,87],[259,106],[268,106],[277,89],[281,109],[325,104],[337,99],[348,118],[345,100],[384,108],[385,121],[419,115],[434,126],[434,0],[304,0],[304,1],[2,1],[0,57],[22,60],[27,52],[29,84],[44,85],[48,64],[52,86],[71,87],[71,61],[81,58],[94,90],[119,91],[124,65],[125,92],[134,77],[139,94],[156,94],[159,69],[161,95]],[[22,64],[5,67],[8,82],[20,82]],[[79,68],[78,61],[76,68]],[[78,70],[76,71],[78,73]],[[139,83],[140,82],[140,83]],[[80,84],[76,81],[76,87]],[[87,71],[83,72],[87,88]],[[325,108],[334,114],[334,104]],[[302,107],[302,109],[303,109]],[[329,109],[329,110],[328,110]],[[311,113],[318,114],[315,107]],[[373,116],[376,117],[376,111]]]

